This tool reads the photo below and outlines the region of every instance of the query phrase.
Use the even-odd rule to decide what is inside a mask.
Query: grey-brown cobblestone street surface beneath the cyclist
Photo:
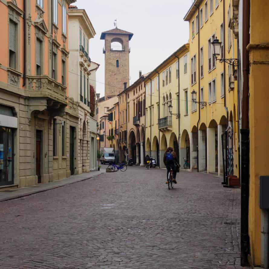
[[[128,167],[0,203],[0,268],[239,269],[240,190]]]

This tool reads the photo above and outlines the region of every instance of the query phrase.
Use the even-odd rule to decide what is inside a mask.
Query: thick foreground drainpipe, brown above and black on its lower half
[[[248,265],[249,235],[248,235],[248,203],[249,203],[249,52],[250,41],[250,0],[243,1],[243,36],[242,36],[242,129],[241,133],[241,265]],[[268,245],[267,245],[268,247]],[[263,252],[263,250],[261,250]],[[267,249],[268,255],[268,249]]]

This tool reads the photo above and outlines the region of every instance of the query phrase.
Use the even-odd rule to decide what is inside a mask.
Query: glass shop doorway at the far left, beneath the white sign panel
[[[13,184],[13,130],[0,127],[0,186]]]

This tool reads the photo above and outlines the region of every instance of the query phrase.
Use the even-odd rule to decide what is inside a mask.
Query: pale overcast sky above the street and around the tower
[[[101,33],[118,28],[133,33],[130,41],[130,85],[138,72],[152,71],[170,54],[188,42],[189,25],[183,21],[192,0],[77,0],[75,5],[85,9],[96,36],[90,40],[89,56],[99,63],[96,92],[105,92],[104,40]],[[113,85],[113,81],[109,83]]]

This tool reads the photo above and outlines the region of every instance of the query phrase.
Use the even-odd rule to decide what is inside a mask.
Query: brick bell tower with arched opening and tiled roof
[[[100,39],[105,40],[105,100],[122,92],[123,83],[129,86],[129,41],[132,36],[117,27],[101,34]],[[113,48],[113,43],[117,47]]]

